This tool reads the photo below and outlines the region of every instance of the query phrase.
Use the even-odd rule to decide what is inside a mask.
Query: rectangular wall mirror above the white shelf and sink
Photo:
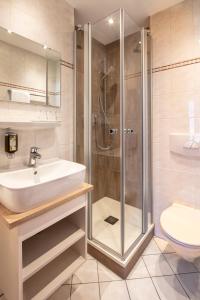
[[[0,100],[61,105],[60,53],[0,28]]]

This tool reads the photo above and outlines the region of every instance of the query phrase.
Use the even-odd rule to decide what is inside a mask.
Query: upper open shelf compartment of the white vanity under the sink
[[[23,281],[84,236],[84,230],[69,222],[68,219],[64,219],[25,240],[22,244]]]

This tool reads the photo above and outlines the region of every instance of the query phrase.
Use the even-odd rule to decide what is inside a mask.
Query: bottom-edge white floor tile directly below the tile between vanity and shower
[[[100,300],[98,283],[72,285],[71,300]]]

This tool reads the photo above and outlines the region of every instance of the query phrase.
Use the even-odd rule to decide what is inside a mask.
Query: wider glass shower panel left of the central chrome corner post
[[[91,25],[92,238],[121,253],[120,11]]]

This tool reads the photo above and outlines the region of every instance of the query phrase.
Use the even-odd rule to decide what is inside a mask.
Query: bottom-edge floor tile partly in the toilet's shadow
[[[152,278],[161,300],[188,300],[175,275]]]

